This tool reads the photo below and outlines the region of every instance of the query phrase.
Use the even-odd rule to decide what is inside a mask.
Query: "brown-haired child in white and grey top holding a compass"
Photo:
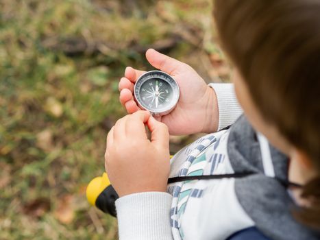
[[[153,67],[180,85],[175,110],[154,119],[132,97],[143,72],[126,69],[120,101],[132,115],[110,130],[105,156],[120,197],[121,240],[319,239],[319,12],[317,0],[215,1],[244,111],[236,121],[241,109],[232,85],[206,86],[188,65],[149,49]],[[169,166],[169,132],[214,133],[175,154]],[[173,176],[226,173],[250,174],[167,186]]]

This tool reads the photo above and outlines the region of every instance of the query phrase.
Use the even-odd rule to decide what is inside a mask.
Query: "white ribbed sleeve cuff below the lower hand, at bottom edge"
[[[116,200],[120,240],[171,240],[170,208],[172,195],[145,192]]]

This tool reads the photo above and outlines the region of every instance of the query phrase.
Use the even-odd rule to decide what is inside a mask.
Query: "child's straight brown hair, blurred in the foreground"
[[[222,47],[262,116],[320,173],[320,1],[214,3]],[[302,195],[312,206],[295,216],[320,228],[320,179],[306,184]]]

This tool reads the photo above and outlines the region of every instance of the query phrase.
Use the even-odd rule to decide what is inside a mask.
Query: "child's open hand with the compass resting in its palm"
[[[149,49],[147,60],[156,69],[172,75],[180,86],[180,99],[175,109],[163,117],[156,118],[165,123],[170,134],[192,134],[215,132],[219,123],[217,97],[214,90],[188,64]],[[134,83],[145,73],[127,67],[125,77],[119,82],[120,101],[127,112],[140,110],[133,98]]]

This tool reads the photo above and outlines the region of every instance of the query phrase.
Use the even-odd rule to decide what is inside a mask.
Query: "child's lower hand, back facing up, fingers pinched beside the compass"
[[[151,132],[151,141],[145,124]],[[119,197],[145,191],[165,192],[169,159],[168,128],[147,111],[119,119],[107,136],[105,166]]]

